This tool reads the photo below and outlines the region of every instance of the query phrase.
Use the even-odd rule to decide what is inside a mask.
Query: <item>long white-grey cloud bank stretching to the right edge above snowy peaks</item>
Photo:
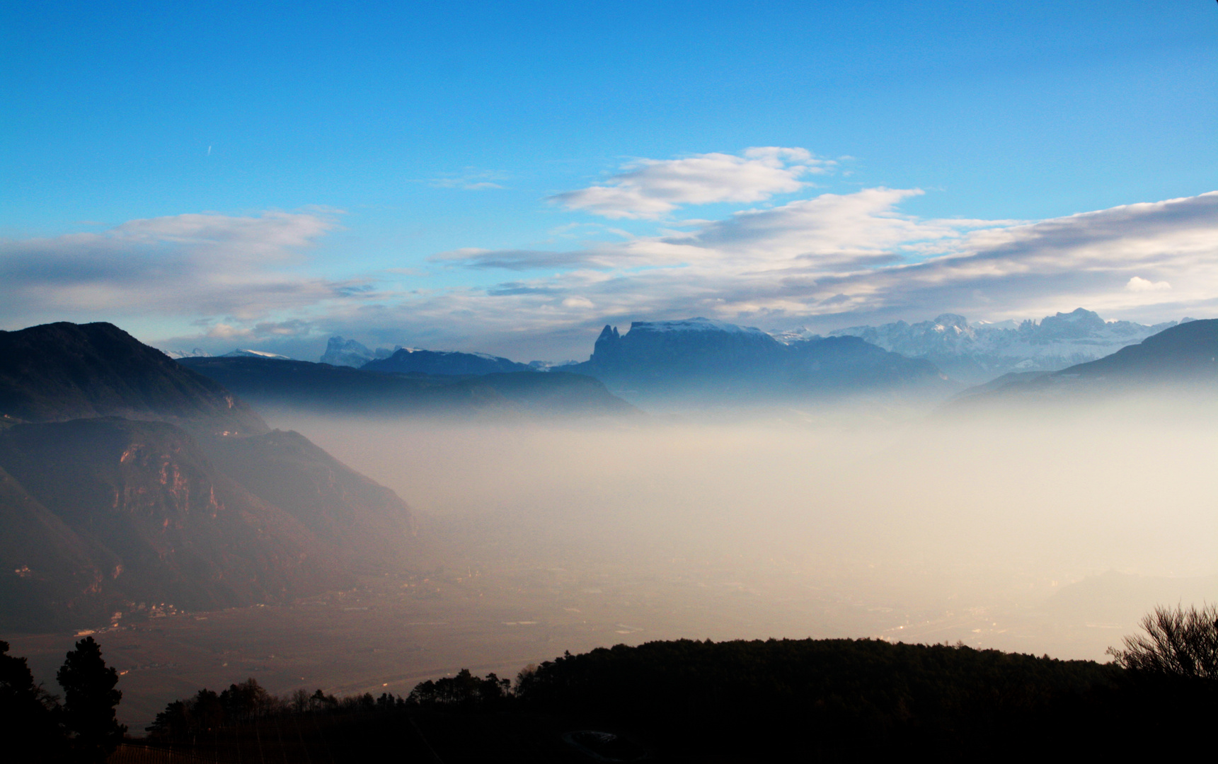
[[[689,315],[828,330],[944,311],[991,320],[1077,307],[1146,320],[1218,311],[1218,192],[1037,223],[900,214],[900,202],[916,193],[826,193],[687,234],[514,251],[515,270],[569,268],[420,298],[409,311],[459,314],[464,331],[484,331],[491,342]],[[490,268],[505,257],[479,251],[464,262]],[[576,296],[594,303],[594,315],[571,310],[565,300]]]

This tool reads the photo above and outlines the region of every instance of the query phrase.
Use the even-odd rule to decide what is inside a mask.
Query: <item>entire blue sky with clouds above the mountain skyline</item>
[[[1218,315],[1211,0],[24,2],[0,67],[5,328]]]

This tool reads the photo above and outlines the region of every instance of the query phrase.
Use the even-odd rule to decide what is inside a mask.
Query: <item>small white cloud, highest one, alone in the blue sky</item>
[[[805,148],[776,146],[747,150],[742,156],[704,153],[683,159],[638,159],[602,185],[557,193],[552,202],[605,218],[657,219],[683,204],[753,203],[792,193],[801,176],[834,167]]]

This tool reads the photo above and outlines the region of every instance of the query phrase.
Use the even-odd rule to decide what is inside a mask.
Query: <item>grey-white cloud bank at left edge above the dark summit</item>
[[[256,320],[364,287],[301,273],[333,217],[185,214],[0,241],[0,319],[231,315]]]

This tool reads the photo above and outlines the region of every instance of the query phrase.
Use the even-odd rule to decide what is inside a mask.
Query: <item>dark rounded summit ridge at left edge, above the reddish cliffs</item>
[[[0,414],[30,422],[125,416],[267,431],[223,387],[112,324],[0,332]]]

